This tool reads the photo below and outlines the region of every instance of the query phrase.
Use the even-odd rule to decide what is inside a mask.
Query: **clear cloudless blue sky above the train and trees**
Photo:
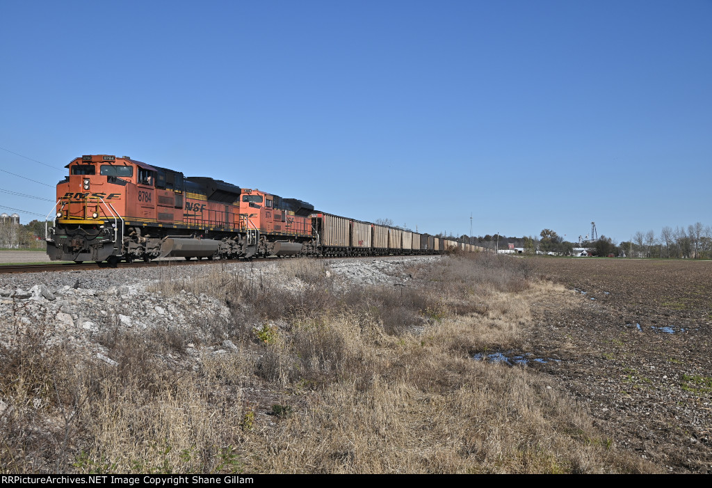
[[[0,169],[51,187],[112,154],[420,232],[712,224],[709,0],[1,11]],[[51,187],[0,172],[0,212]]]

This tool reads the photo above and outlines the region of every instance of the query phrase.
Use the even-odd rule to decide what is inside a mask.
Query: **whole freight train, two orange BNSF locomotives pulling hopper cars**
[[[46,236],[52,260],[429,254],[457,246],[127,156],[85,155],[66,167]]]

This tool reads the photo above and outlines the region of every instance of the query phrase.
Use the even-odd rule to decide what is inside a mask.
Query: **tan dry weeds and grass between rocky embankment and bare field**
[[[167,269],[155,291],[215,296],[232,323],[196,324],[200,358],[190,333],[120,328],[101,338],[115,366],[70,350],[57,362],[41,338],[5,348],[2,470],[654,470],[550,378],[471,358],[521,346],[550,286],[523,262],[449,256],[397,287],[348,284],[320,260]],[[215,351],[225,338],[236,351]]]

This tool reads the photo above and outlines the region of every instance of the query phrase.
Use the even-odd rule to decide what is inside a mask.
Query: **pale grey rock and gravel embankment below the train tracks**
[[[324,260],[325,272],[369,285],[389,285],[409,279],[404,264],[440,259],[413,256],[386,259]],[[158,291],[166,280],[200,279],[217,273],[237,274],[258,281],[278,272],[288,260],[175,266],[173,268],[95,269],[89,271],[41,272],[0,276],[0,343],[12,346],[19,333],[36,333],[46,344],[70,343],[112,363],[97,340],[100,333],[159,329],[199,334],[197,324],[220,324],[231,320],[231,311],[218,298],[181,290]],[[286,281],[284,286],[295,286]],[[203,351],[234,348],[230,341],[204,343]],[[191,351],[194,349],[194,351]],[[207,350],[207,351],[205,351]]]

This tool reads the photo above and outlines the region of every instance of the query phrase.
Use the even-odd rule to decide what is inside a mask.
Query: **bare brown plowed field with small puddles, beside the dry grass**
[[[712,262],[534,259],[566,291],[536,303],[526,351],[619,449],[712,472]]]

